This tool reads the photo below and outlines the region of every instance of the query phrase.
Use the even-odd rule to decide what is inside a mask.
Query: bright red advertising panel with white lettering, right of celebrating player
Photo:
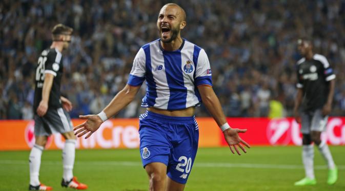
[[[301,145],[300,124],[293,118],[228,118],[232,128],[248,129],[241,138],[251,145]],[[331,117],[321,140],[332,145],[345,144],[345,117]],[[221,145],[227,145],[221,138]]]

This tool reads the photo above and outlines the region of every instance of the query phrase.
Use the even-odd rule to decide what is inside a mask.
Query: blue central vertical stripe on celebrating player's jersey
[[[170,89],[168,110],[175,110],[186,107],[187,88],[181,66],[181,52],[163,51],[164,67],[166,69],[167,81]]]

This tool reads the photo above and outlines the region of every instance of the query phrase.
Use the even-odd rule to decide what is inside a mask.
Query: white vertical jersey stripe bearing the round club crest
[[[181,50],[181,71],[184,77],[185,87],[187,88],[187,100],[186,100],[186,108],[192,107],[195,105],[195,102],[198,102],[198,97],[195,95],[195,85],[194,85],[194,73],[195,73],[195,63],[194,59],[191,55],[194,53],[194,45],[189,43],[188,41],[185,42],[185,46]],[[191,65],[193,67],[193,73],[186,73],[184,72],[184,67],[186,66],[187,61],[192,61]]]

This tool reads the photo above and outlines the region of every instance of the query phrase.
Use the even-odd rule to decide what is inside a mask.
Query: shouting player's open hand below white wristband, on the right
[[[231,129],[230,128],[230,129],[227,129],[223,132],[225,140],[227,141],[227,143],[230,147],[230,150],[233,154],[235,154],[235,152],[234,152],[234,150],[235,150],[238,155],[241,155],[241,153],[238,151],[237,146],[240,147],[243,152],[247,153],[246,148],[243,147],[242,144],[244,144],[248,148],[250,148],[250,145],[246,141],[243,141],[238,135],[238,133],[245,133],[246,131],[247,130]]]

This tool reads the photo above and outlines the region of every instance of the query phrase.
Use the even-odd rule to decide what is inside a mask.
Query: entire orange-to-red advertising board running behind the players
[[[293,118],[228,118],[232,128],[248,129],[241,134],[251,145],[300,145],[300,125]],[[73,119],[74,125],[83,120]],[[197,118],[199,147],[226,146],[221,131],[212,118]],[[89,139],[79,138],[77,148],[137,148],[139,146],[138,119],[111,119],[102,124]],[[29,150],[34,144],[34,122],[0,120],[2,138],[0,150]],[[330,118],[327,130],[321,135],[332,145],[345,145],[345,117]],[[54,134],[48,139],[48,149],[64,146],[64,138]]]

